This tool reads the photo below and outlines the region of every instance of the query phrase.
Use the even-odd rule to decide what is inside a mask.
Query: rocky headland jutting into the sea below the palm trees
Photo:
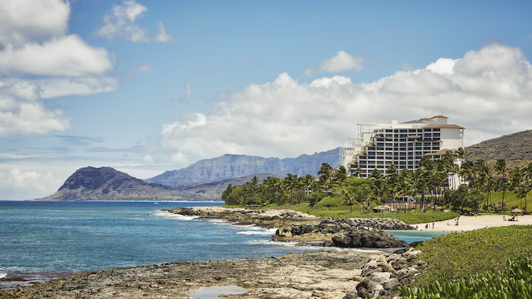
[[[294,210],[186,207],[169,210],[198,218],[222,218],[236,225],[277,228],[273,241],[353,248],[409,247],[383,230],[414,230],[393,218],[317,218]]]

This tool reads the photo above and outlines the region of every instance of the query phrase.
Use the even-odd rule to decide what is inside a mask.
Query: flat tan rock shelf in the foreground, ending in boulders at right
[[[392,298],[421,270],[416,253],[336,250],[107,269],[0,291],[0,298],[191,298],[187,293],[201,286],[248,290],[224,298]]]

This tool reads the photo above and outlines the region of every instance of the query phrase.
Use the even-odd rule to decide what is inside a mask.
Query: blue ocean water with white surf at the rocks
[[[0,289],[72,272],[323,249],[271,242],[275,230],[164,211],[194,205],[222,203],[0,201]]]

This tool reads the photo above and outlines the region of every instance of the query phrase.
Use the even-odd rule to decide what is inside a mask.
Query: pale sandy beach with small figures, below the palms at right
[[[516,221],[508,221],[510,215],[477,215],[477,216],[460,216],[458,219],[458,225],[455,225],[455,220],[444,220],[433,223],[420,223],[417,225],[418,230],[426,230],[425,225],[428,225],[427,230],[437,230],[445,232],[462,232],[465,230],[478,230],[484,227],[499,227],[509,225],[532,225],[532,215],[518,215]],[[416,225],[414,225],[415,227]]]

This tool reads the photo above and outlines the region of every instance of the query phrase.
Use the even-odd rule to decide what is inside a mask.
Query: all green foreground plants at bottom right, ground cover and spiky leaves
[[[531,238],[531,225],[512,225],[453,232],[423,242],[416,249],[428,267],[414,285],[399,288],[401,295],[412,299],[531,298]],[[479,295],[474,297],[475,293]]]

